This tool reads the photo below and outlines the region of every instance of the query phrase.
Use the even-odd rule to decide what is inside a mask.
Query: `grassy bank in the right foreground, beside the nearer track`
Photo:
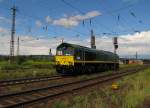
[[[150,95],[150,69],[127,76],[117,82],[118,90],[111,85],[72,99],[59,100],[53,108],[142,108]]]

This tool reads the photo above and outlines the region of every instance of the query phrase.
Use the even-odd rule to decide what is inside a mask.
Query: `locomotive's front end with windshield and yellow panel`
[[[72,74],[74,70],[74,49],[65,45],[57,47],[56,56],[56,71],[61,74]]]

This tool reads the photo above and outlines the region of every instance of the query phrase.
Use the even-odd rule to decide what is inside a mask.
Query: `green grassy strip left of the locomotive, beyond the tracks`
[[[26,60],[19,63],[10,64],[8,61],[1,61],[0,80],[52,76],[56,74],[54,62],[51,61]]]

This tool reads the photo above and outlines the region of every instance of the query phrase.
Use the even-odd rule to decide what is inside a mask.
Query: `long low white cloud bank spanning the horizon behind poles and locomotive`
[[[0,54],[9,54],[9,42],[10,35],[2,36],[3,33],[9,33],[8,30],[0,28]],[[41,36],[42,37],[42,36]],[[61,37],[57,36],[57,38],[40,38],[37,39],[33,36],[20,36],[20,54],[21,55],[47,55],[49,53],[49,49],[52,49],[52,53],[55,54],[56,47],[61,43]],[[16,52],[16,41],[15,38],[15,52]],[[65,38],[65,42],[79,44],[82,46],[90,47],[90,37],[87,39],[77,39],[76,37]],[[150,31],[143,31],[141,33],[128,34],[128,35],[120,35],[118,36],[119,48],[117,53],[121,57],[135,57],[135,53],[138,52],[140,57],[144,57],[147,55],[147,58],[150,58]],[[113,41],[112,37],[107,36],[99,36],[96,35],[96,47],[99,50],[106,50],[113,52]]]

